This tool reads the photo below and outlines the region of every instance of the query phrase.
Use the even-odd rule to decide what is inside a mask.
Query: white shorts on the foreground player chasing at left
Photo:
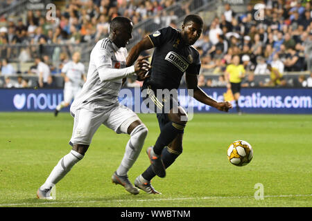
[[[101,124],[116,133],[128,133],[130,124],[137,120],[139,120],[137,114],[122,104],[116,104],[108,111],[90,111],[87,108],[80,108],[75,112],[73,134],[69,144],[90,145],[94,133]]]

